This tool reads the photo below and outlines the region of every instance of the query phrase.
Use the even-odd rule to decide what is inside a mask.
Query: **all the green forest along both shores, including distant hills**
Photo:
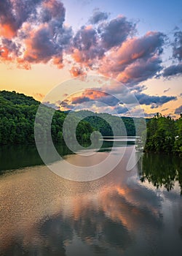
[[[15,91],[0,91],[0,144],[25,144],[34,143],[34,123],[36,112],[40,102],[33,97],[16,93]],[[41,122],[47,122],[47,114],[50,108],[44,105],[44,120],[38,121],[39,140],[47,140],[47,129],[42,127]],[[68,113],[55,110],[52,118],[51,132],[52,140],[55,143],[63,143],[63,123]],[[81,120],[82,121],[79,121]],[[71,113],[69,127],[78,123],[76,127],[76,138],[79,143],[90,143],[90,134],[94,131],[100,132],[103,136],[115,135],[135,136],[135,123],[141,127],[142,135],[145,129],[143,118],[122,117],[124,129],[121,129],[121,118],[111,116],[108,113],[92,113],[89,110],[82,110]],[[73,137],[71,129],[66,131],[65,136],[69,139]],[[146,152],[163,152],[182,154],[182,116],[174,120],[170,116],[162,116],[157,113],[154,118],[147,121]]]

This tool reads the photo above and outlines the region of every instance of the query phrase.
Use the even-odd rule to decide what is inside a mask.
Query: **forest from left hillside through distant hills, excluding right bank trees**
[[[34,143],[34,123],[36,112],[39,108],[40,102],[33,99],[33,97],[19,94],[15,91],[0,91],[0,144],[25,144]],[[49,115],[49,110],[44,105],[44,123],[46,124]],[[55,143],[63,143],[63,122],[68,113],[56,110],[52,118],[52,140]],[[82,119],[82,121],[79,121]],[[116,130],[116,135],[135,135],[135,124],[132,118],[122,117],[126,132],[122,130],[118,116],[111,116],[106,113],[92,113],[91,111],[83,110],[77,113],[71,114],[70,122],[72,124],[78,122],[76,127],[76,138],[79,143],[90,143],[90,134],[93,131],[99,131],[103,136],[112,136],[112,128]],[[136,121],[143,124],[141,118],[137,118]],[[41,124],[40,118],[36,126],[39,128],[39,140],[47,140],[47,129],[44,129]],[[72,125],[69,125],[70,129],[66,131],[65,136],[71,139],[73,132],[71,132]],[[111,124],[111,125],[110,125]],[[112,127],[112,128],[111,128]]]

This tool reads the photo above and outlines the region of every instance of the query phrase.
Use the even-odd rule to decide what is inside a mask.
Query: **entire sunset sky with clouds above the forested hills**
[[[102,75],[111,78],[110,86],[89,83],[74,96],[63,91],[60,98],[67,98],[57,101],[57,107],[74,109],[82,102],[103,112],[106,108],[92,102],[104,99],[107,109],[127,116],[123,102],[111,96],[124,97],[130,104],[130,97],[122,95],[127,86],[146,117],[159,112],[178,118],[182,112],[181,10],[181,0],[1,0],[0,90],[44,100],[67,80]],[[137,116],[135,106],[130,107]]]

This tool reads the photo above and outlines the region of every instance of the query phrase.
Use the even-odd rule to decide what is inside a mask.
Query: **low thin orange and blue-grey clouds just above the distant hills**
[[[100,109],[100,112],[102,112],[103,108],[109,108],[109,111],[115,110],[117,113],[126,113],[128,108],[130,108],[130,110],[133,108],[133,95],[130,91],[127,91],[127,94],[125,92],[123,92],[123,94],[118,94],[118,97],[119,99],[122,99],[122,101],[114,95],[108,94],[104,91],[85,89],[82,93],[76,96],[67,97],[63,102],[59,102],[59,105],[61,109],[73,109],[84,103],[82,107],[80,106],[79,108],[82,109],[86,107],[86,105],[91,108],[92,105],[99,102],[97,109]],[[151,105],[151,108],[158,108],[166,102],[177,99],[173,96],[150,96],[140,92],[135,93],[135,97],[138,99],[138,104]],[[91,105],[88,105],[89,102],[91,102]]]

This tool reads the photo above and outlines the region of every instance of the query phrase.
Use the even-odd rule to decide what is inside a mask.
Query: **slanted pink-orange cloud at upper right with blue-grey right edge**
[[[127,85],[152,78],[162,69],[163,44],[164,35],[159,32],[127,39],[102,60],[99,71]]]

